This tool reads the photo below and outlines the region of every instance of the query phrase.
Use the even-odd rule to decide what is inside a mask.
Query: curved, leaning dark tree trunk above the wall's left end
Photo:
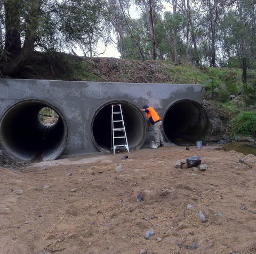
[[[10,62],[7,62],[3,66],[3,72],[7,75],[13,75],[19,72],[20,68],[25,63],[28,56],[33,53],[35,47],[40,6],[41,0],[34,1],[30,6],[29,13],[25,20],[27,27],[23,47],[15,58],[13,58]]]

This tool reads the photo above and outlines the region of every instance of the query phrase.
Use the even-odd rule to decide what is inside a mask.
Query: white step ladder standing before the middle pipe
[[[114,154],[115,154],[116,148],[122,148],[122,147],[125,147],[128,153],[130,153],[128,142],[127,142],[125,126],[124,126],[124,118],[123,118],[121,104],[113,104],[111,106],[112,106],[111,148],[113,148]],[[117,133],[121,133],[121,136],[117,136]]]

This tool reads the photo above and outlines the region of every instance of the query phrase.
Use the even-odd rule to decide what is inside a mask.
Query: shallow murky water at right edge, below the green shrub
[[[222,146],[221,148],[217,148],[217,149],[224,150],[224,151],[234,150],[244,155],[253,154],[256,156],[256,148],[248,147],[248,146],[256,146],[255,142],[231,142],[221,146]]]

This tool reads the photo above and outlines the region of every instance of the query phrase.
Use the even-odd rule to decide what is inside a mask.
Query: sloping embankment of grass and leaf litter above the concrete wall
[[[241,69],[195,67],[170,61],[137,61],[117,58],[79,57],[62,53],[35,53],[15,78],[86,80],[107,82],[199,83],[203,98],[227,111],[230,136],[252,136],[256,132],[256,71],[248,72],[248,84],[242,83]],[[229,96],[235,95],[230,101]]]

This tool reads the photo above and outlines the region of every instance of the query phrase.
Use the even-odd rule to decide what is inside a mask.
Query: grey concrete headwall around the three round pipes
[[[62,113],[68,128],[63,154],[76,155],[98,151],[91,138],[91,122],[97,109],[108,101],[124,100],[138,108],[146,103],[163,116],[174,101],[201,103],[201,86],[0,79],[0,121],[12,105],[32,99],[45,101]]]

